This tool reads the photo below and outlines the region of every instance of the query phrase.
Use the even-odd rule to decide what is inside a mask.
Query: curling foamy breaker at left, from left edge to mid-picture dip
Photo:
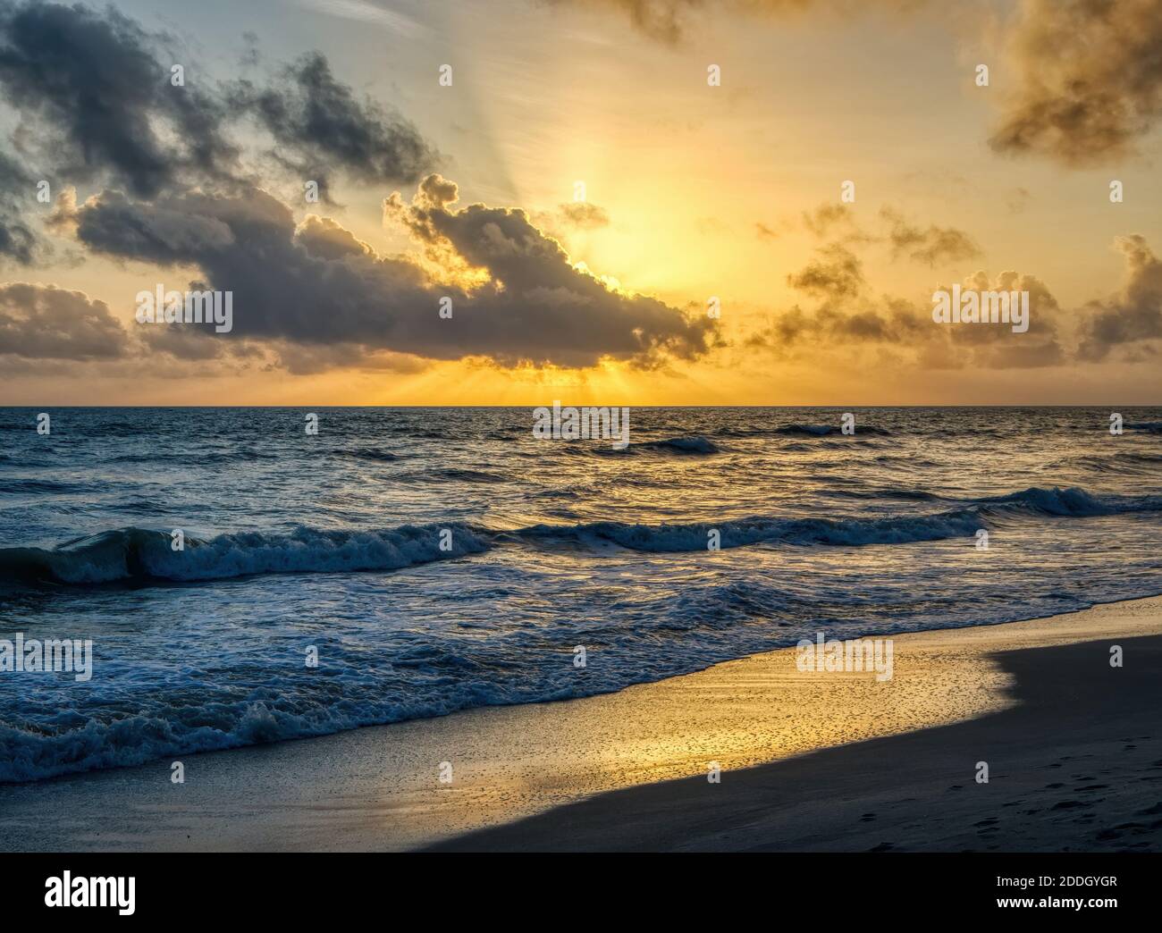
[[[451,531],[451,536],[440,532]],[[442,538],[449,550],[442,550]],[[270,573],[395,570],[487,551],[489,543],[460,523],[404,525],[386,531],[320,531],[290,534],[243,532],[171,547],[164,531],[128,527],[58,547],[0,548],[0,580],[57,583],[199,581]]]

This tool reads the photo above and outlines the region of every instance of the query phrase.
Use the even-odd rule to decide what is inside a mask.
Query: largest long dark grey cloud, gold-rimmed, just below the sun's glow
[[[478,356],[505,366],[581,367],[603,358],[651,366],[704,352],[709,321],[574,268],[522,210],[453,209],[457,193],[453,182],[430,177],[410,203],[397,192],[385,202],[387,220],[439,260],[435,270],[378,256],[330,220],[296,225],[282,202],[257,188],[155,201],[102,192],[77,209],[76,230],[94,252],[196,267],[210,288],[234,293],[230,338],[239,340]],[[443,297],[452,300],[451,318],[438,314]]]

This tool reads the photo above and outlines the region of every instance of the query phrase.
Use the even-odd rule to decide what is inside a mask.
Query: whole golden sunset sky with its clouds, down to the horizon
[[[1159,404],[1160,60],[1162,0],[0,0],[0,403]]]

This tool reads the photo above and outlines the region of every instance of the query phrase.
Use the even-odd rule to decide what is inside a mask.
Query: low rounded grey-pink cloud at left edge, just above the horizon
[[[103,301],[52,285],[0,285],[0,352],[26,359],[107,360],[128,335]]]

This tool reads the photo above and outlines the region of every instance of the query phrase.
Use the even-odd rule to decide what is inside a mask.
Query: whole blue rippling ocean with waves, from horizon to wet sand
[[[1162,594],[1162,409],[1113,410],[632,408],[616,450],[531,408],[0,409],[0,782]],[[91,679],[2,669],[17,633]]]

